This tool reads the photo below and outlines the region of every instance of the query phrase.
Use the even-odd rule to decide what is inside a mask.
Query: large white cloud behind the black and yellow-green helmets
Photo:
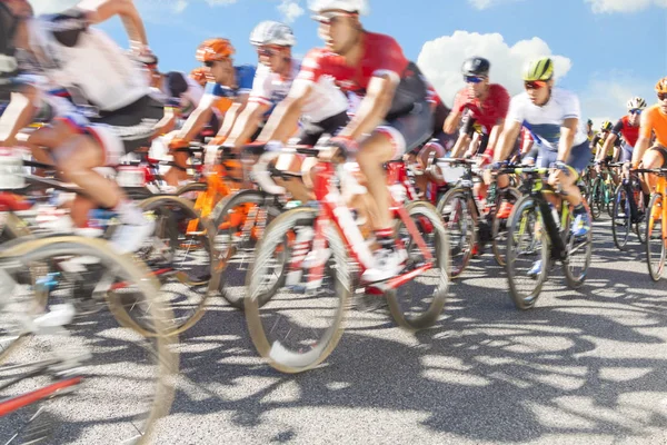
[[[552,56],[549,46],[537,37],[521,40],[510,47],[499,33],[479,34],[467,31],[456,31],[451,36],[426,42],[417,63],[442,100],[451,106],[456,92],[465,87],[461,65],[472,56],[489,59],[491,82],[502,85],[510,95],[522,91],[521,68],[528,60],[551,56],[556,78],[565,76],[571,68],[570,59]]]

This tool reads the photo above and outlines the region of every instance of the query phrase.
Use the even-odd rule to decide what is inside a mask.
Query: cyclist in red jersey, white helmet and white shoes
[[[311,9],[326,48],[308,53],[290,96],[302,102],[317,85],[335,81],[345,92],[362,98],[350,123],[326,146],[334,149],[331,156],[337,150],[357,154],[359,168],[371,179],[367,188],[378,210],[372,222],[380,249],[362,279],[388,279],[402,268],[406,251],[396,248],[384,164],[431,136],[429,89],[396,40],[362,28],[359,16],[367,12],[365,1],[319,0]]]

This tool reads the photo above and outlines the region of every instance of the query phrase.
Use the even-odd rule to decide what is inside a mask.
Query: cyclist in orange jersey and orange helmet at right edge
[[[647,169],[667,167],[667,77],[656,83],[656,93],[658,103],[641,113],[639,138],[633,151],[633,168],[637,168],[639,162]],[[655,142],[651,145],[653,135]],[[654,175],[647,175],[646,182],[650,190],[655,189]]]

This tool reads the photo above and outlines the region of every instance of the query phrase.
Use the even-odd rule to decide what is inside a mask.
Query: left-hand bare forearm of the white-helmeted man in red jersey
[[[257,140],[279,140],[287,142],[299,125],[301,110],[313,91],[313,85],[300,79],[295,80],[289,95],[285,98],[269,118]]]

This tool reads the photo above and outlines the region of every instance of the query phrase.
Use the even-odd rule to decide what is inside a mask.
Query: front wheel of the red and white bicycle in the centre
[[[313,249],[317,215],[315,209],[297,208],[276,218],[247,274],[250,337],[269,365],[283,373],[311,369],[334,352],[351,294],[347,250],[332,225],[322,228],[326,245]],[[286,234],[293,235],[288,237],[293,241],[286,280],[261,306],[259,297],[282,274],[279,258]]]

